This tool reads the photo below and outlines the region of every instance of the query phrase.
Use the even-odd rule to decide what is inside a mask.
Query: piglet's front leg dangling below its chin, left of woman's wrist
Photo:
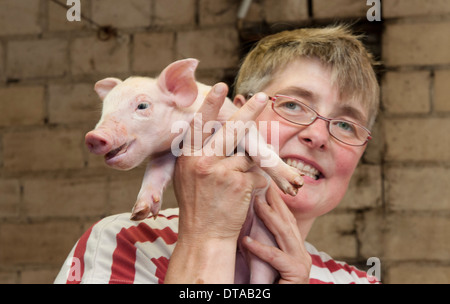
[[[148,162],[141,190],[133,207],[132,220],[142,220],[150,214],[154,217],[158,215],[163,191],[172,179],[175,161],[175,156],[169,152]]]

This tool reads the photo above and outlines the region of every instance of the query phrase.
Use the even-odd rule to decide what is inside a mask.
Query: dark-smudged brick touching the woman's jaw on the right
[[[350,180],[339,209],[375,208],[381,204],[381,167],[359,165]]]

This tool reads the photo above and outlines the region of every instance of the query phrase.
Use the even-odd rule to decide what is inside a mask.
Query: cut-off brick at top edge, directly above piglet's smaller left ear
[[[151,3],[148,0],[92,0],[92,19],[119,28],[149,26]]]

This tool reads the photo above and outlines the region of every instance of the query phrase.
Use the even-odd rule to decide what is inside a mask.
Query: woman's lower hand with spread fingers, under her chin
[[[244,238],[244,246],[280,273],[280,284],[307,284],[311,256],[304,246],[293,214],[282,200],[276,186],[269,187],[267,203],[255,200],[255,212],[272,232],[279,246],[272,247]]]

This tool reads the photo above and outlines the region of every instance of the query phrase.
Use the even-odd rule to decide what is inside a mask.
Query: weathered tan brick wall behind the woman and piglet
[[[83,231],[133,205],[143,169],[111,170],[84,147],[100,115],[95,81],[154,76],[196,57],[201,81],[231,82],[240,39],[255,29],[364,23],[368,9],[365,0],[255,0],[239,32],[238,0],[81,2],[85,18],[68,22],[54,1],[0,0],[1,283],[52,282]],[[449,283],[450,0],[387,0],[382,11],[375,138],[344,202],[308,239],[363,269],[379,257],[386,283]],[[101,41],[97,25],[117,34]],[[176,204],[170,192],[165,201]]]

